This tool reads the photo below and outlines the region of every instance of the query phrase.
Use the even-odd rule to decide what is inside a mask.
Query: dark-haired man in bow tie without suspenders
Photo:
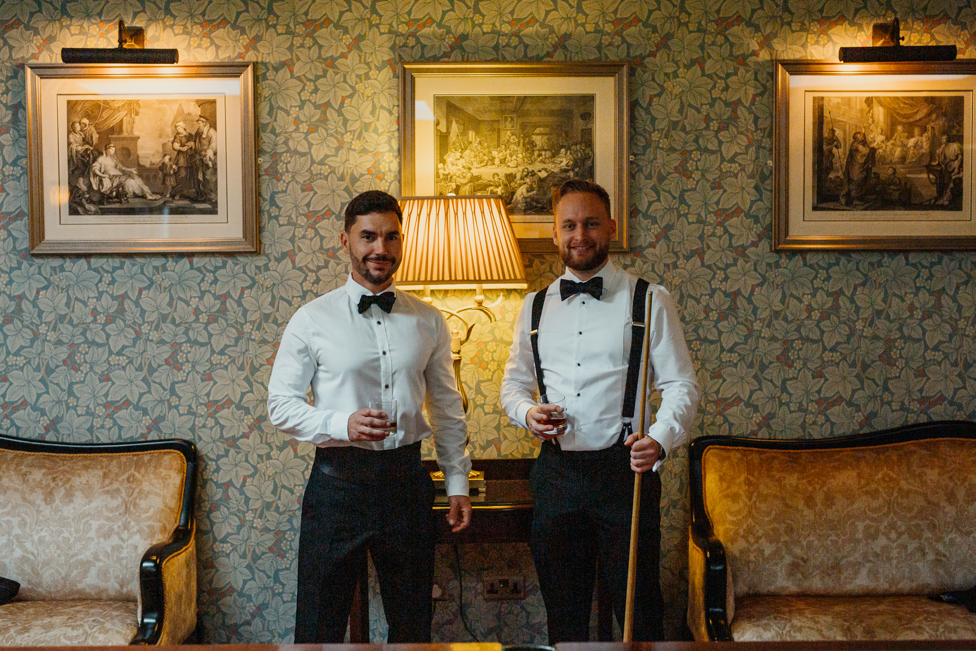
[[[388,641],[430,641],[433,485],[421,440],[431,433],[451,504],[447,521],[454,531],[470,521],[468,427],[451,333],[437,308],[393,285],[401,219],[386,192],[349,202],[340,233],[351,267],[346,285],[299,308],[268,382],[271,423],[316,446],[302,503],[298,644],[343,641],[356,560],[367,549]],[[313,404],[305,401],[309,386]],[[395,400],[395,413],[370,408],[379,400]]]

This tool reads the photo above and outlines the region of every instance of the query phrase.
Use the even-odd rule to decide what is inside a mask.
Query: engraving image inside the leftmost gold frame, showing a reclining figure
[[[66,100],[64,108],[61,224],[226,224],[223,97]]]

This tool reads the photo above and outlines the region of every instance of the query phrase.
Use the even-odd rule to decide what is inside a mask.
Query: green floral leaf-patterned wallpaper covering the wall
[[[399,193],[397,61],[629,60],[629,254],[668,287],[705,389],[693,435],[822,437],[976,415],[969,253],[770,251],[772,63],[870,44],[896,15],[908,44],[976,57],[967,0],[18,0],[0,2],[0,419],[64,441],[179,436],[203,457],[199,609],[213,642],[283,642],[294,624],[299,505],[311,454],[267,423],[275,344],[299,305],[346,276],[353,194]],[[262,253],[35,258],[27,253],[23,63],[113,47],[115,21],[181,61],[258,61]],[[532,289],[561,266],[528,256]],[[464,305],[471,293],[436,295]],[[495,296],[489,296],[493,301]],[[512,321],[465,349],[471,454],[536,446],[498,404]],[[427,450],[429,454],[429,449]],[[664,471],[662,583],[681,634],[687,465]],[[462,546],[468,629],[544,642],[524,546]],[[528,598],[486,604],[482,576]],[[457,558],[438,550],[434,639],[470,639]],[[386,625],[374,586],[373,638]]]

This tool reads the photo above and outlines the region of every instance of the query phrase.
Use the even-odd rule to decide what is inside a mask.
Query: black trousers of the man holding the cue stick
[[[532,558],[546,602],[549,644],[590,639],[596,560],[624,625],[633,470],[630,448],[563,452],[543,444],[530,477],[535,515]],[[664,637],[661,595],[661,477],[644,472],[640,492],[633,641]]]

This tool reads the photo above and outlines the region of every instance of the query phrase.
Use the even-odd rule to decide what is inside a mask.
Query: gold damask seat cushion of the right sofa
[[[976,615],[926,596],[746,596],[731,629],[737,642],[976,639]]]

